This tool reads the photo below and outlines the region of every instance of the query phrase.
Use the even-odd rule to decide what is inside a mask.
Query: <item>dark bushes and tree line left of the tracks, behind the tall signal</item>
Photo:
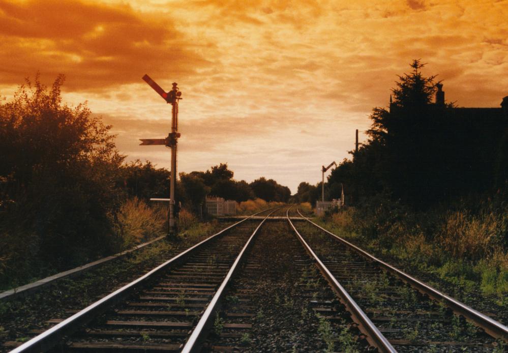
[[[63,81],[58,76],[48,88],[36,77],[12,100],[0,100],[0,288],[8,274],[38,277],[117,251],[122,204],[169,195],[169,171],[148,161],[125,163],[111,126],[85,104],[62,101]],[[206,195],[283,202],[290,196],[271,179],[234,180],[227,164],[180,179],[177,201],[194,211]]]

